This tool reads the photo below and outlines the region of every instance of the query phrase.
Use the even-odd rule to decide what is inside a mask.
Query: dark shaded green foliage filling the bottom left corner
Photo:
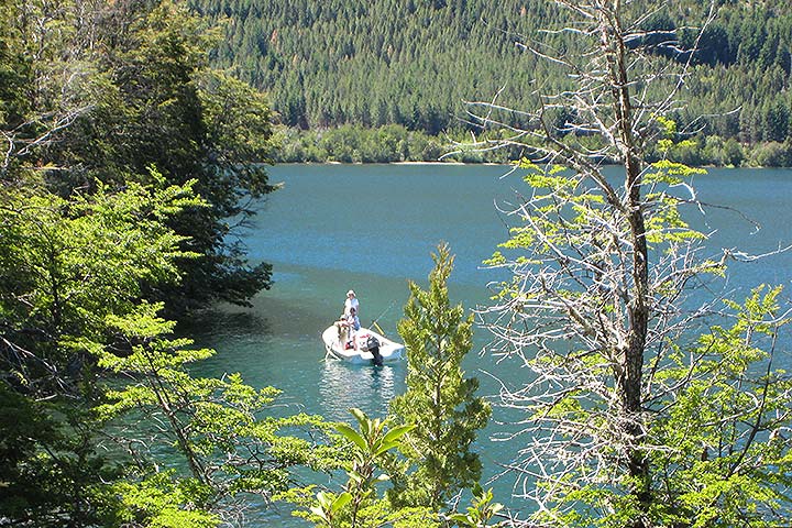
[[[88,409],[36,402],[0,384],[0,515],[15,526],[116,526],[123,506],[111,483],[122,458],[109,460]]]

